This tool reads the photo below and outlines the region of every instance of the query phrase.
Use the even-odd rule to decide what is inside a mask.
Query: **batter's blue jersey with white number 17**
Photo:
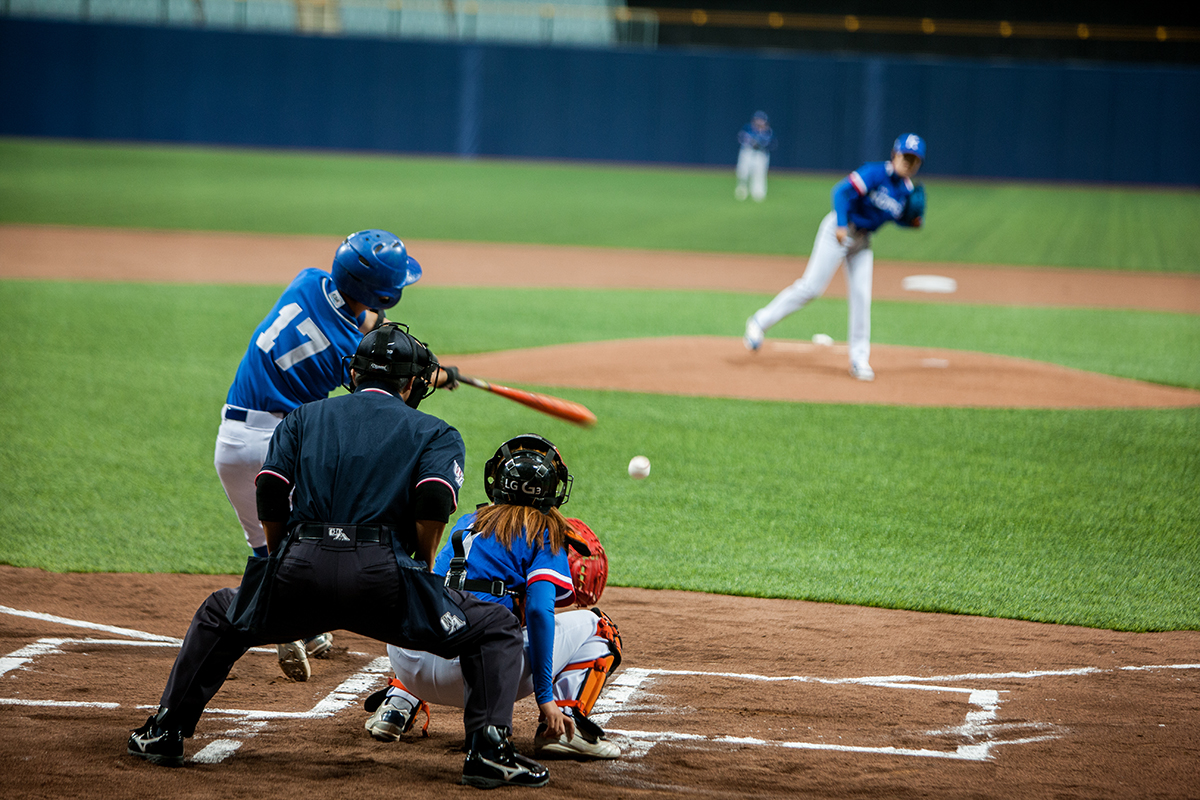
[[[332,276],[304,270],[254,329],[226,403],[287,414],[322,399],[348,381],[342,357],[361,339]]]

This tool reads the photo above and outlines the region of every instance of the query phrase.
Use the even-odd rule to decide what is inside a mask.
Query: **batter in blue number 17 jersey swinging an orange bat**
[[[421,265],[395,234],[360,230],[338,246],[330,272],[306,269],[296,275],[251,335],[221,409],[214,464],[257,555],[266,555],[266,537],[254,477],[275,427],[288,411],[348,383],[343,359],[420,277]],[[331,646],[329,633],[281,644],[280,667],[293,680],[307,680],[308,657]]]

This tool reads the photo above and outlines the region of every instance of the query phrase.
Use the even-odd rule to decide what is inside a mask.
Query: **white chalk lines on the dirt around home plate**
[[[7,656],[0,657],[0,675],[12,669],[24,669],[35,658],[65,652],[64,645],[124,645],[124,646],[179,646],[182,639],[164,637],[133,628],[100,625],[84,620],[73,620],[53,614],[28,612],[0,606],[0,613],[13,616],[38,619],[72,627],[84,627],[108,633],[127,636],[130,639],[70,639],[70,638],[43,638],[20,648]],[[131,640],[132,639],[132,640]],[[252,652],[275,654],[274,648],[253,648]],[[355,654],[366,655],[366,654]],[[1001,745],[1019,745],[1036,741],[1057,739],[1061,728],[1050,723],[1028,722],[1018,724],[998,724],[996,717],[1000,709],[1000,691],[997,690],[972,690],[955,686],[926,685],[944,684],[972,680],[1002,680],[1002,679],[1030,679],[1067,675],[1090,675],[1110,673],[1118,670],[1160,670],[1160,669],[1200,669],[1200,663],[1188,664],[1156,664],[1156,666],[1129,666],[1104,669],[1099,667],[1080,667],[1074,669],[1040,669],[1026,672],[1003,673],[962,673],[955,675],[874,675],[862,678],[817,678],[810,675],[756,675],[749,673],[730,672],[702,672],[694,669],[653,669],[653,668],[626,668],[613,676],[605,686],[592,718],[600,724],[607,723],[612,716],[618,714],[636,714],[637,704],[634,702],[643,686],[655,676],[694,675],[704,678],[728,678],[748,681],[767,682],[814,682],[824,685],[862,685],[876,688],[917,690],[967,694],[967,703],[976,706],[968,711],[964,723],[947,729],[928,730],[928,735],[958,735],[971,740],[984,736],[985,741],[973,741],[973,744],[960,745],[954,751],[937,751],[926,748],[902,748],[902,747],[866,747],[857,745],[834,745],[829,742],[805,742],[805,741],[775,741],[758,739],[754,736],[708,736],[702,734],[684,734],[672,732],[652,730],[624,730],[610,729],[614,738],[624,740],[626,745],[625,758],[638,758],[649,752],[659,742],[708,742],[716,745],[733,746],[769,746],[787,750],[826,750],[854,753],[875,753],[912,756],[923,758],[950,758],[960,760],[989,760],[992,758],[991,750]],[[218,763],[232,756],[241,747],[246,739],[257,735],[270,720],[316,720],[332,716],[343,709],[355,704],[358,698],[377,685],[384,675],[391,673],[391,664],[386,656],[380,656],[367,663],[358,673],[343,680],[329,694],[307,711],[266,711],[260,709],[206,709],[206,714],[227,715],[236,717],[239,724],[220,734],[220,738],[210,741],[197,752],[192,760],[200,763]],[[120,708],[119,703],[88,703],[66,700],[26,700],[18,698],[0,698],[0,705],[38,705],[46,708]],[[156,708],[156,706],[138,706]],[[1034,736],[1020,739],[997,740],[994,733],[1010,732],[1016,729],[1040,729],[1049,730]]]

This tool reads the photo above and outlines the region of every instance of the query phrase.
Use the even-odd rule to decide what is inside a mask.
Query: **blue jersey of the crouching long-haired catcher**
[[[575,599],[575,584],[571,583],[571,565],[566,560],[566,548],[558,553],[550,549],[550,531],[542,534],[541,547],[532,547],[526,541],[524,531],[515,537],[512,549],[509,549],[494,536],[480,536],[473,530],[468,530],[475,522],[475,515],[463,515],[455,523],[454,529],[446,541],[446,546],[438,553],[433,564],[433,571],[445,575],[450,571],[450,559],[454,557],[452,540],[455,531],[463,531],[462,546],[467,554],[467,579],[496,581],[500,579],[504,585],[517,588],[528,587],[538,581],[548,581],[556,588],[554,604],[570,606]],[[487,593],[473,593],[480,600],[500,603],[506,608],[512,608],[512,599],[505,595],[496,597]]]

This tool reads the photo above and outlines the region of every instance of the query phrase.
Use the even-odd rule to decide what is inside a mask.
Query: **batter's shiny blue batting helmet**
[[[334,253],[334,284],[367,308],[391,308],[404,287],[421,278],[421,265],[386,230],[360,230]]]

